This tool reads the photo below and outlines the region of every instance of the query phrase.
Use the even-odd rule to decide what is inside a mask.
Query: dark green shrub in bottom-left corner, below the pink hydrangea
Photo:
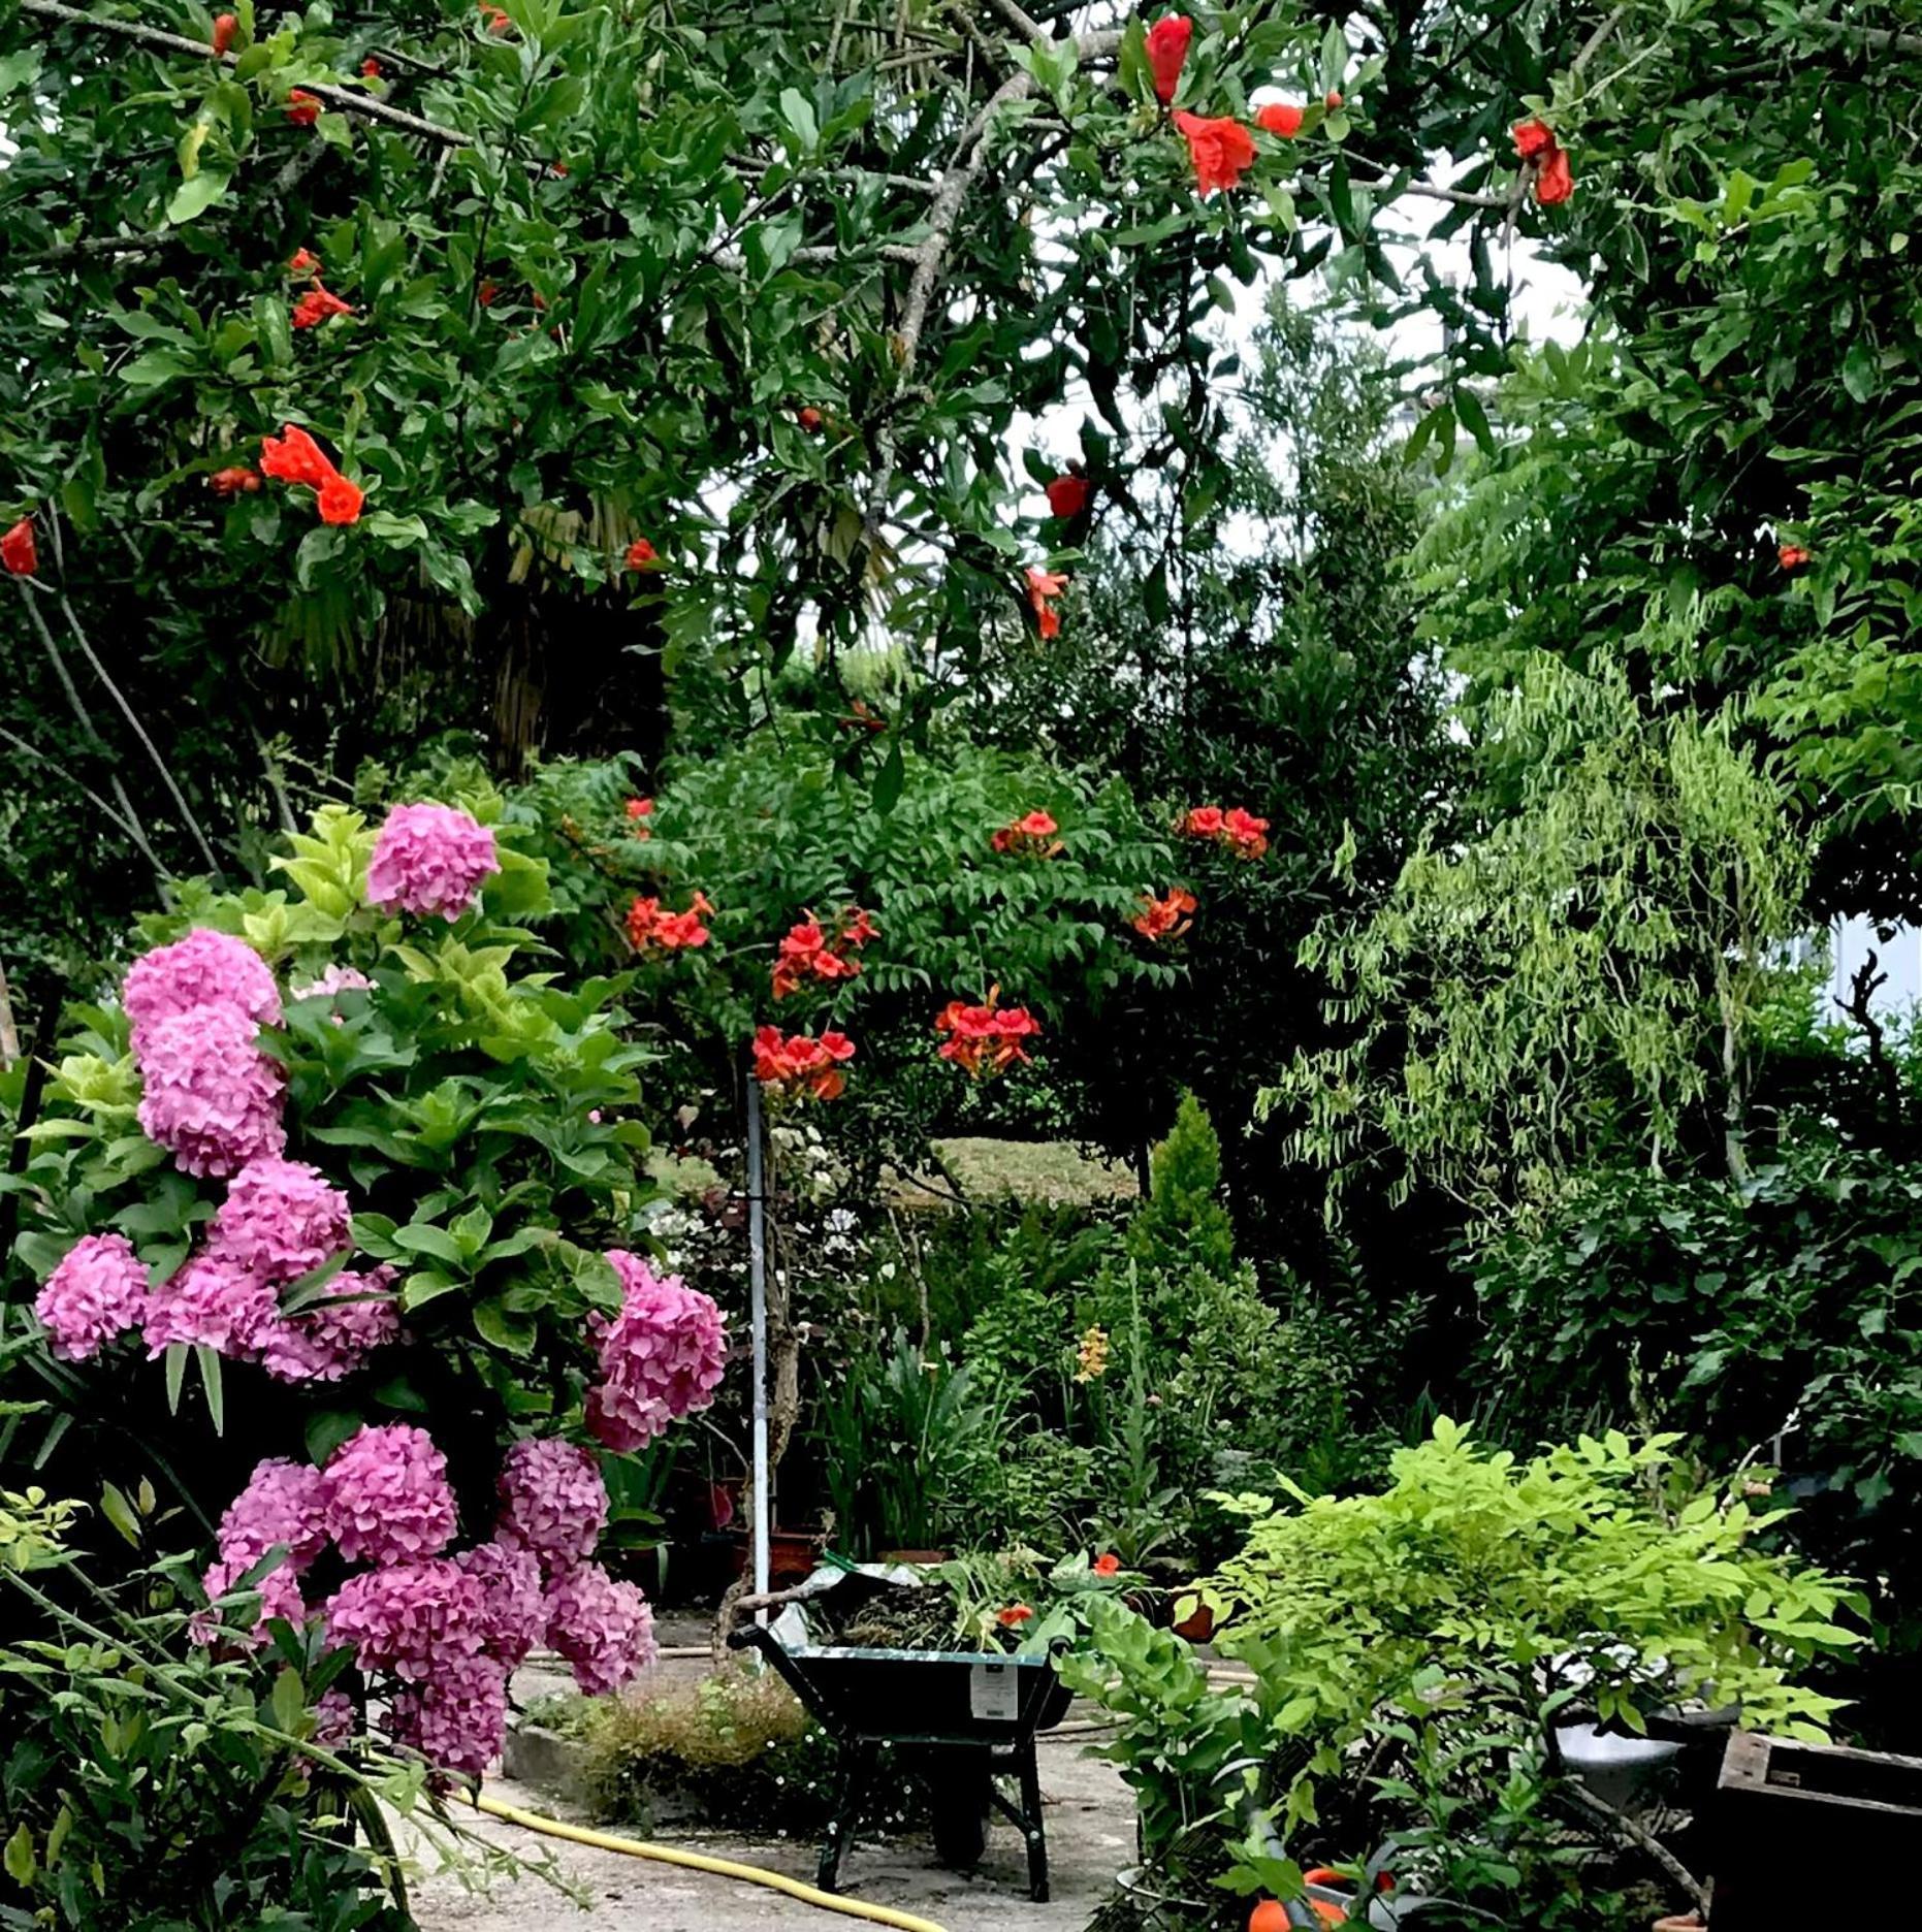
[[[456,1847],[425,1766],[352,1721],[323,1731],[344,1652],[286,1625],[259,1656],[189,1644],[182,1567],[100,1582],[66,1548],[73,1522],[71,1503],[0,1492],[0,1924],[406,1932],[381,1806],[446,1855],[514,1866]]]

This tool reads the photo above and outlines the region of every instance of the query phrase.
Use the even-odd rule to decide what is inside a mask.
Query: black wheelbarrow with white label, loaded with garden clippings
[[[927,1785],[943,1864],[960,1870],[977,1864],[989,1812],[999,1808],[1028,1845],[1028,1895],[1047,1903],[1035,1733],[1060,1723],[1072,1696],[1049,1656],[790,1648],[759,1625],[730,1631],[728,1642],[759,1650],[840,1747],[840,1791],[821,1843],[823,1891],[836,1889],[840,1861],[875,1793],[887,1747],[896,1764]],[[1020,1803],[1001,1789],[999,1777],[1016,1781]]]

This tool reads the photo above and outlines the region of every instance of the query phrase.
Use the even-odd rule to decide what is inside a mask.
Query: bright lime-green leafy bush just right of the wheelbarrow
[[[1286,1897],[1304,1862],[1385,1843],[1404,1882],[1470,1915],[1601,1924],[1557,1849],[1570,1822],[1594,1830],[1559,1803],[1557,1721],[1640,1731],[1733,1704],[1822,1737],[1837,1706],[1802,1677],[1854,1642],[1856,1600],[1767,1549],[1779,1513],[1673,1484],[1673,1451],[1611,1434],[1518,1463],[1439,1422],[1379,1493],[1258,1505],[1198,1590],[1246,1690],[1099,1609],[1066,1673],[1122,1719],[1109,1756],[1174,1889]]]

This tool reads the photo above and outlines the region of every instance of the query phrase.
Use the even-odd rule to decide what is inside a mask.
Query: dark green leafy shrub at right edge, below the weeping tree
[[[1899,1748],[1922,1712],[1922,1177],[1785,1132],[1752,1177],[1605,1169],[1476,1260],[1503,1430],[1648,1416],[1791,1495],[1781,1534],[1864,1578],[1839,1675]]]

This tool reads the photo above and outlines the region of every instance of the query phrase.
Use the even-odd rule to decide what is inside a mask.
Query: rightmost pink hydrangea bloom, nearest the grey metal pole
[[[657,1275],[639,1256],[608,1252],[620,1275],[620,1314],[589,1316],[599,1337],[599,1389],[587,1428],[608,1449],[639,1449],[670,1422],[707,1408],[726,1366],[728,1337],[713,1298]]]

